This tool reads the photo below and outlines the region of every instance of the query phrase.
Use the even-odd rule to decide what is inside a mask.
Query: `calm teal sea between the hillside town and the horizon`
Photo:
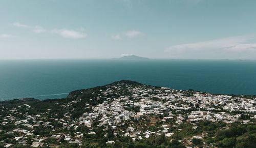
[[[121,79],[181,90],[256,95],[256,61],[0,61],[0,100],[65,98]]]

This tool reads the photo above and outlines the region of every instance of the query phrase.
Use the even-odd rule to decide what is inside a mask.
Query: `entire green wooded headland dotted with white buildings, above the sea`
[[[0,147],[254,147],[256,97],[121,80],[0,102]]]

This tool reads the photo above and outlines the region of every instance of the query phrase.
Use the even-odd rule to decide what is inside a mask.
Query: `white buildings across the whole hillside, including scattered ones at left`
[[[95,135],[97,128],[103,131],[111,128],[115,136],[131,137],[133,140],[162,134],[170,137],[181,131],[178,127],[184,123],[210,121],[229,124],[239,121],[241,113],[256,111],[255,98],[211,95],[134,83],[113,83],[104,86],[99,92],[92,92],[94,97],[91,101],[102,103],[95,106],[90,102],[84,104],[84,108],[90,108],[90,111],[84,112],[77,119],[72,119],[72,110],[58,117],[51,108],[34,114],[31,110],[35,108],[28,104],[13,108],[0,104],[0,134],[6,137],[11,135],[11,141],[0,139],[0,144],[5,147],[12,146],[13,142],[32,147],[49,146],[44,142],[49,138],[57,139],[58,142],[81,144],[85,135],[78,130],[80,127],[87,127],[89,131],[86,134],[90,135]],[[65,110],[81,99],[55,105]],[[255,117],[251,115],[251,118]],[[4,129],[8,126],[11,128]],[[152,129],[154,126],[158,128]],[[35,132],[41,128],[49,130],[50,136],[40,131]],[[196,126],[193,128],[196,130]],[[71,129],[73,133],[70,133]],[[107,143],[114,142],[110,140]]]

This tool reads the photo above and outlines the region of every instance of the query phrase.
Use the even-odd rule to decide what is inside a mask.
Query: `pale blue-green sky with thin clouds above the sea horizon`
[[[1,0],[0,59],[256,60],[255,6],[255,0]]]

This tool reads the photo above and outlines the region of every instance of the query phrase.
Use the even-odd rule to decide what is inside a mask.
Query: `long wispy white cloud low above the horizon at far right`
[[[165,51],[174,58],[254,58],[253,39],[255,36],[230,37],[169,46]]]

